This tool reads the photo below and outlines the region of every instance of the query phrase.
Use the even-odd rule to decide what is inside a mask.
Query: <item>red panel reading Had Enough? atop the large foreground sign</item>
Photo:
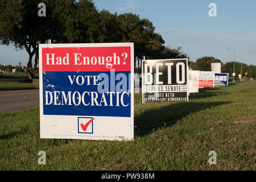
[[[42,71],[115,72],[131,71],[130,47],[44,47]]]

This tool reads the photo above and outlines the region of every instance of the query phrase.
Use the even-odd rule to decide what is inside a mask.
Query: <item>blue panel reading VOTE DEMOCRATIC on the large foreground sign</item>
[[[43,72],[43,114],[131,116],[130,72]]]

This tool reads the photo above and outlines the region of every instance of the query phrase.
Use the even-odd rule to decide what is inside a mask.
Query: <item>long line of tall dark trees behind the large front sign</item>
[[[38,16],[42,0],[0,1],[0,43],[28,52],[28,73],[34,78],[39,63],[39,44],[133,42],[134,65],[141,73],[141,60],[184,58],[181,47],[163,46],[162,35],[148,19],[132,13],[98,11],[90,0],[44,0],[46,16]],[[189,58],[189,57],[188,57]],[[34,64],[32,59],[34,59]]]

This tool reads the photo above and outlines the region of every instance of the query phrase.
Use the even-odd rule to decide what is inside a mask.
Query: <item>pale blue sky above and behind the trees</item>
[[[149,19],[166,46],[182,46],[192,61],[214,56],[226,63],[236,61],[256,65],[256,1],[232,0],[93,0],[98,10],[138,14]],[[217,16],[210,17],[209,3],[216,3]],[[27,64],[26,51],[0,46],[0,64]]]

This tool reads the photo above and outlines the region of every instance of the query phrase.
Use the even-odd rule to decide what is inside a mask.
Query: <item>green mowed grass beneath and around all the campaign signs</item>
[[[142,105],[133,141],[40,139],[39,108],[0,114],[1,170],[255,170],[256,82]],[[46,165],[38,152],[46,152]],[[217,164],[208,155],[216,151]]]

